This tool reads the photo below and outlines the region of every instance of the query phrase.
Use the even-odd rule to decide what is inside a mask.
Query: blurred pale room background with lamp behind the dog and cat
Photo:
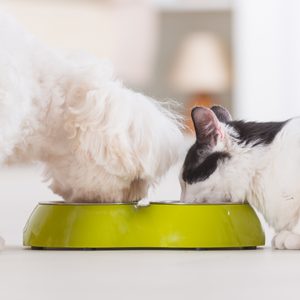
[[[300,113],[297,0],[0,0],[0,9],[50,47],[109,59],[127,86],[174,99],[188,126],[194,105],[221,104],[251,120]],[[151,199],[179,198],[179,167]],[[0,173],[0,234],[8,242],[20,243],[37,201],[57,199],[40,173],[39,166]]]

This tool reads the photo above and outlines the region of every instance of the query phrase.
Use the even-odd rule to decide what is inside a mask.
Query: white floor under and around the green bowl
[[[179,197],[179,165],[152,199]],[[298,299],[300,251],[37,251],[22,228],[38,201],[58,199],[36,168],[0,171],[0,299]],[[269,243],[271,231],[266,228]]]

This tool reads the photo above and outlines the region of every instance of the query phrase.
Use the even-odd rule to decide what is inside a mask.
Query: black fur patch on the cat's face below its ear
[[[195,143],[185,158],[182,179],[188,184],[203,181],[214,173],[220,161],[228,158],[230,154],[227,152],[208,152]]]

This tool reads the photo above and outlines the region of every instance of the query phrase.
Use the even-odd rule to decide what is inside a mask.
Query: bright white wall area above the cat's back
[[[234,1],[234,111],[252,120],[300,114],[300,2]]]

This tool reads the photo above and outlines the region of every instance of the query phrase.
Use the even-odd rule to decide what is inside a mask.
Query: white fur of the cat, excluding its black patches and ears
[[[181,200],[247,200],[275,229],[275,248],[300,249],[300,118],[288,121],[269,145],[254,147],[239,144],[230,125],[216,122],[219,133],[212,152],[225,151],[231,158],[194,184],[183,181],[181,172]]]

